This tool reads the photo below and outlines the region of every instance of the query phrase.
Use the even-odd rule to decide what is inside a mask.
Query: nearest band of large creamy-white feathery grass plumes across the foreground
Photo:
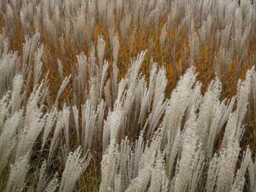
[[[72,78],[69,76],[62,83],[51,110],[45,112],[44,104],[40,102],[45,96],[43,87],[46,81],[35,86],[25,109],[20,110],[20,94],[23,89],[26,92],[26,87],[18,84],[18,79],[23,80],[23,77],[20,74],[15,76],[11,83],[18,90],[7,92],[0,102],[0,145],[4,148],[3,155],[0,155],[0,173],[8,169],[9,161],[15,165],[10,169],[10,180],[6,185],[8,190],[29,188],[25,176],[17,185],[13,182],[12,178],[17,174],[13,167],[20,166],[20,174],[30,174],[29,159],[35,153],[36,140],[42,133],[39,153],[45,153],[46,148],[49,151],[48,161],[44,161],[38,175],[38,191],[54,191],[56,188],[60,191],[74,190],[75,183],[86,171],[91,159],[91,155],[84,158],[80,155],[82,151],[87,154],[88,150],[94,150],[97,143],[102,144],[103,151],[99,191],[196,191],[197,188],[241,191],[245,185],[247,166],[254,166],[248,148],[242,157],[241,167],[236,168],[241,151],[239,142],[244,132],[242,120],[246,113],[246,105],[241,101],[248,99],[252,74],[255,73],[253,69],[247,73],[246,80],[238,84],[237,107],[232,112],[235,99],[219,101],[222,87],[219,80],[211,82],[202,96],[200,83],[195,82],[193,67],[181,77],[170,98],[165,98],[165,68],[157,69],[157,65],[152,64],[150,80],[146,82],[139,72],[144,56],[145,53],[140,53],[132,61],[127,76],[118,82],[116,99],[110,95],[111,101],[115,101],[112,109],[104,99],[99,101],[102,99],[99,90],[95,92],[91,89],[88,94],[93,93],[94,97],[88,96],[81,110],[67,104],[63,105],[63,110],[58,110],[61,93]],[[103,71],[106,72],[104,68],[102,73],[105,74]],[[91,74],[94,72],[91,71]],[[94,80],[86,86],[90,83],[92,86],[105,84],[105,80],[100,80],[100,84],[97,84],[96,78]],[[105,107],[108,109],[106,116]],[[146,122],[144,118],[147,118]],[[75,137],[82,148],[78,147],[67,157],[74,145],[71,140],[74,137],[72,122]],[[130,134],[131,124],[140,130],[137,141],[121,138]],[[222,146],[214,154],[214,142],[222,129],[225,130]],[[118,143],[120,139],[121,143]],[[15,158],[12,158],[12,153]],[[53,176],[48,169],[59,153],[64,159],[67,158],[60,183],[57,174]],[[18,164],[19,161],[24,164]],[[203,176],[205,169],[208,170],[206,179]],[[254,180],[252,172],[249,175]],[[253,185],[251,188],[254,188]]]

